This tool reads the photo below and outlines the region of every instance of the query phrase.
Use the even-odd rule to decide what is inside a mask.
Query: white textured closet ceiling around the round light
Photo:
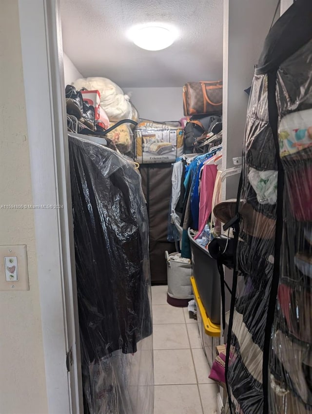
[[[64,52],[79,72],[121,87],[182,86],[222,77],[222,0],[60,0]],[[151,52],[127,38],[135,24],[165,22],[179,31]]]

